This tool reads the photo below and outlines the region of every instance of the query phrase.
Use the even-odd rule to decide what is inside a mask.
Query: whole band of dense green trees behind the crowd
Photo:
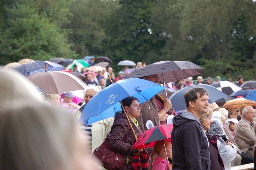
[[[203,77],[256,78],[253,0],[0,0],[0,64],[107,56],[189,60]]]

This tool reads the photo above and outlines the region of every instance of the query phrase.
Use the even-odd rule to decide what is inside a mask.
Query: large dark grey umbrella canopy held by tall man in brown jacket
[[[190,61],[159,61],[132,71],[125,79],[158,74],[160,83],[179,81],[201,74],[203,68]]]

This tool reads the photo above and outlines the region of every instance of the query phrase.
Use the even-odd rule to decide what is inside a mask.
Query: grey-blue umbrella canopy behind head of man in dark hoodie
[[[169,99],[172,102],[172,107],[175,111],[186,110],[187,109],[184,94],[185,94],[186,91],[188,91],[189,89],[191,89],[193,87],[203,87],[203,88],[205,88],[208,91],[208,94],[209,94],[209,101],[208,101],[209,103],[213,103],[216,100],[218,100],[220,98],[223,98],[223,97],[228,97],[228,95],[226,95],[222,91],[216,89],[213,86],[207,85],[207,84],[187,86],[183,89],[180,89],[180,90],[176,91],[175,93],[173,93],[169,97]]]

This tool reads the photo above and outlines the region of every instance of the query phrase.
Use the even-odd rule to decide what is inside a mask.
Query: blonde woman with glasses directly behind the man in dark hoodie
[[[200,119],[200,123],[205,130],[205,134],[207,136],[209,142],[209,151],[210,151],[210,158],[211,158],[211,169],[220,169],[224,170],[224,163],[222,158],[220,157],[220,152],[217,146],[217,137],[213,137],[211,134],[207,132],[210,129],[212,124],[212,110],[208,107],[208,112],[205,113]]]

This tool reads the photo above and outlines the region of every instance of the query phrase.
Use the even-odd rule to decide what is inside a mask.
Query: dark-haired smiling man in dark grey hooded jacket
[[[199,121],[207,112],[208,92],[194,87],[184,97],[188,111],[172,120],[172,169],[210,170],[209,143]]]

